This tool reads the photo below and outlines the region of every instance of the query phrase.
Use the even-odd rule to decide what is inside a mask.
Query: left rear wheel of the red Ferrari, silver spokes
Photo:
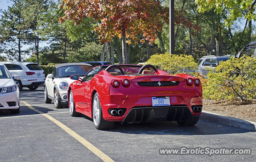
[[[98,130],[111,129],[114,126],[114,122],[106,121],[102,117],[102,109],[101,109],[98,93],[96,93],[93,98],[92,118],[93,118],[94,126]]]

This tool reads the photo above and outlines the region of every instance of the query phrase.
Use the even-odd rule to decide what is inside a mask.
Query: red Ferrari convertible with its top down
[[[202,111],[202,85],[188,74],[169,75],[152,65],[101,65],[68,88],[71,116],[93,119],[96,129],[114,121],[177,121],[194,125]]]

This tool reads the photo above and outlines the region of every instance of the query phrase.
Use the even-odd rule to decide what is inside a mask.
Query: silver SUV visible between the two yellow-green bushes
[[[215,69],[216,66],[220,63],[220,61],[227,61],[230,58],[230,55],[226,56],[203,56],[198,62],[198,72],[204,76],[206,76],[209,72],[207,68]]]

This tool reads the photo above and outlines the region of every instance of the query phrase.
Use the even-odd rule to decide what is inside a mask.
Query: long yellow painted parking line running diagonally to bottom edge
[[[22,101],[28,108],[32,110],[36,110],[34,107],[32,107],[30,104],[28,104],[26,101]],[[64,131],[66,131],[70,136],[74,137],[77,141],[82,143],[86,148],[88,148],[90,151],[92,151],[94,154],[96,154],[101,160],[104,162],[114,162],[110,157],[108,157],[106,154],[104,154],[101,150],[96,148],[93,144],[88,142],[86,139],[78,135],[76,132],[72,131],[72,129],[68,128],[66,125],[61,123],[60,121],[54,119],[50,115],[43,113],[42,111],[37,110],[38,113],[41,113],[45,117],[47,117],[50,121],[54,122],[56,125],[58,125],[60,128],[62,128]]]

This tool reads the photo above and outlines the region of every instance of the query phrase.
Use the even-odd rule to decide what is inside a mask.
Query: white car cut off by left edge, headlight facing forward
[[[15,80],[19,75],[11,76],[4,64],[0,63],[0,109],[10,109],[11,113],[20,112],[19,88]]]

